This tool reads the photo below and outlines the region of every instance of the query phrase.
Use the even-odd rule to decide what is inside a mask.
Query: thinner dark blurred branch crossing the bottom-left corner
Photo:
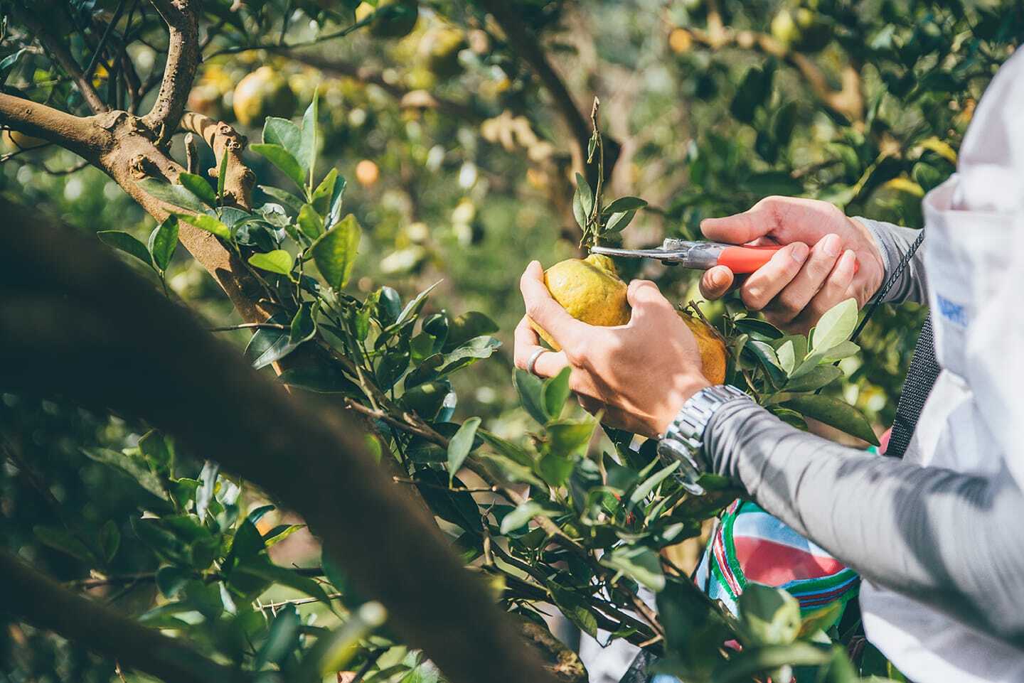
[[[76,595],[5,552],[0,552],[0,604],[5,611],[116,658],[124,667],[167,683],[242,680],[239,672],[207,659],[180,639]]]

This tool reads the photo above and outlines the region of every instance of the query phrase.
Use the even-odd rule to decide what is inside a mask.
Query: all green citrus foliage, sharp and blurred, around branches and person
[[[147,3],[41,4],[105,101],[131,109],[152,96],[166,27]],[[706,477],[707,494],[694,496],[650,441],[634,447],[611,429],[599,438],[597,420],[570,404],[564,374],[515,372],[508,382],[496,335],[519,315],[513,283],[527,256],[568,255],[588,232],[631,244],[694,237],[700,218],[771,194],[920,226],[921,196],[952,171],[974,103],[1019,41],[1019,8],[530,0],[509,27],[490,5],[209,0],[188,108],[249,134],[252,207],[225,201],[230,162],[204,151],[177,183],[138,181],[176,207],[146,223],[95,169],[54,175],[76,167],[74,155],[15,131],[4,191],[97,231],[155,287],[223,327],[222,295],[176,249],[182,223],[215,236],[276,311],[229,333],[252,333],[240,352],[265,372],[304,355],[280,381],[366,419],[396,485],[425,500],[509,611],[541,623],[554,605],[581,631],[628,639],[688,681],[784,680],[793,666],[819,667],[830,681],[889,675],[877,658],[851,665],[842,634],[820,630],[833,615],[801,622],[783,592],[749,589],[737,618],[709,602],[662,551],[698,536],[737,492]],[[7,18],[5,89],[87,114],[67,65],[37,47],[17,11]],[[604,99],[600,121],[577,113],[586,135],[593,123],[608,138],[584,137],[579,176],[563,133],[575,124],[561,121],[517,28],[564,65],[580,101],[594,91]],[[613,108],[602,91],[636,74],[644,85]],[[602,185],[623,199],[602,203]],[[558,234],[569,239],[556,244]],[[681,303],[694,298],[691,273],[643,274]],[[858,353],[852,302],[807,338],[732,303],[700,310],[728,342],[732,383],[794,424],[813,417],[868,441],[871,425],[848,401],[872,418],[891,414],[919,319],[880,311]],[[0,523],[24,558],[254,678],[437,680],[344,567],[321,561],[315,546],[302,568],[282,561],[278,544],[301,538],[301,520],[220,473],[217,454],[183,453],[117,416],[2,397]],[[656,594],[656,614],[641,587]],[[3,633],[15,679],[112,675],[113,663],[29,627]],[[723,650],[729,640],[742,652]]]

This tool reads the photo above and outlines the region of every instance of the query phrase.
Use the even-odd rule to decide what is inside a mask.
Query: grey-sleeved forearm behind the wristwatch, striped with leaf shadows
[[[745,399],[708,425],[712,468],[872,584],[1024,644],[1024,495],[872,456],[791,427]]]

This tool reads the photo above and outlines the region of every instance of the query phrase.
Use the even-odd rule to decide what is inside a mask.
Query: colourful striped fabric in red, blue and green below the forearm
[[[739,500],[723,513],[694,579],[733,613],[748,582],[785,589],[805,616],[845,605],[859,586],[852,569],[756,503]]]

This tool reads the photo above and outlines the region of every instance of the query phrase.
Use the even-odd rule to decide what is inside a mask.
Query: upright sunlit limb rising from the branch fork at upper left
[[[152,0],[167,22],[168,46],[157,101],[142,120],[163,143],[170,139],[185,111],[188,90],[199,67],[199,19],[196,0]]]

